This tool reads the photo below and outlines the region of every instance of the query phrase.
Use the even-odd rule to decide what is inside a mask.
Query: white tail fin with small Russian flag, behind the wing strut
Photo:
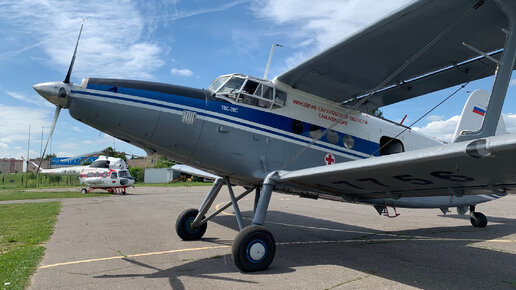
[[[459,124],[455,129],[453,142],[457,139],[463,131],[477,131],[482,126],[484,115],[486,113],[487,104],[489,103],[490,94],[484,90],[474,91],[466,101],[462,115],[460,116]],[[500,115],[498,127],[495,135],[507,134],[503,117]]]

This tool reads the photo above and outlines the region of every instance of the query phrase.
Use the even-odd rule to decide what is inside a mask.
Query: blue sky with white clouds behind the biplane
[[[32,86],[65,78],[81,23],[71,81],[85,77],[138,79],[206,88],[219,75],[262,77],[278,43],[273,78],[395,11],[408,0],[76,1],[0,0],[0,158],[41,154],[54,105]],[[450,141],[468,95],[490,90],[493,79],[470,83],[414,125]],[[384,117],[411,124],[447,97],[450,88],[382,108]],[[516,132],[516,78],[503,109]],[[30,131],[30,145],[28,144]],[[43,146],[44,146],[43,141]],[[106,135],[61,111],[48,153],[76,156],[108,146],[143,150]]]

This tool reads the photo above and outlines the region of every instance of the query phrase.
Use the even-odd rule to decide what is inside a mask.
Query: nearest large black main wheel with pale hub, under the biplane
[[[274,259],[276,242],[265,227],[248,226],[236,236],[231,254],[240,271],[263,271]]]

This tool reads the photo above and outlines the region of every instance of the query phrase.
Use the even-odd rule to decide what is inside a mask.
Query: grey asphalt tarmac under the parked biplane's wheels
[[[208,190],[63,199],[29,289],[516,288],[516,195],[478,205],[489,220],[478,229],[456,212],[399,209],[387,218],[372,206],[273,194],[266,227],[276,257],[267,271],[243,274],[231,260],[232,208],[200,241],[175,233],[179,213],[198,208]],[[214,206],[228,200],[223,188]],[[251,195],[240,202],[245,217],[252,204]]]

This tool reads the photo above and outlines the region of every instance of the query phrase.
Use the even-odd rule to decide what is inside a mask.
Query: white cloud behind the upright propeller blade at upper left
[[[83,17],[73,76],[150,79],[151,72],[164,63],[160,46],[142,35],[147,20],[135,2],[12,1],[2,4],[0,17],[37,43],[48,55],[49,67],[62,71],[63,76]]]

